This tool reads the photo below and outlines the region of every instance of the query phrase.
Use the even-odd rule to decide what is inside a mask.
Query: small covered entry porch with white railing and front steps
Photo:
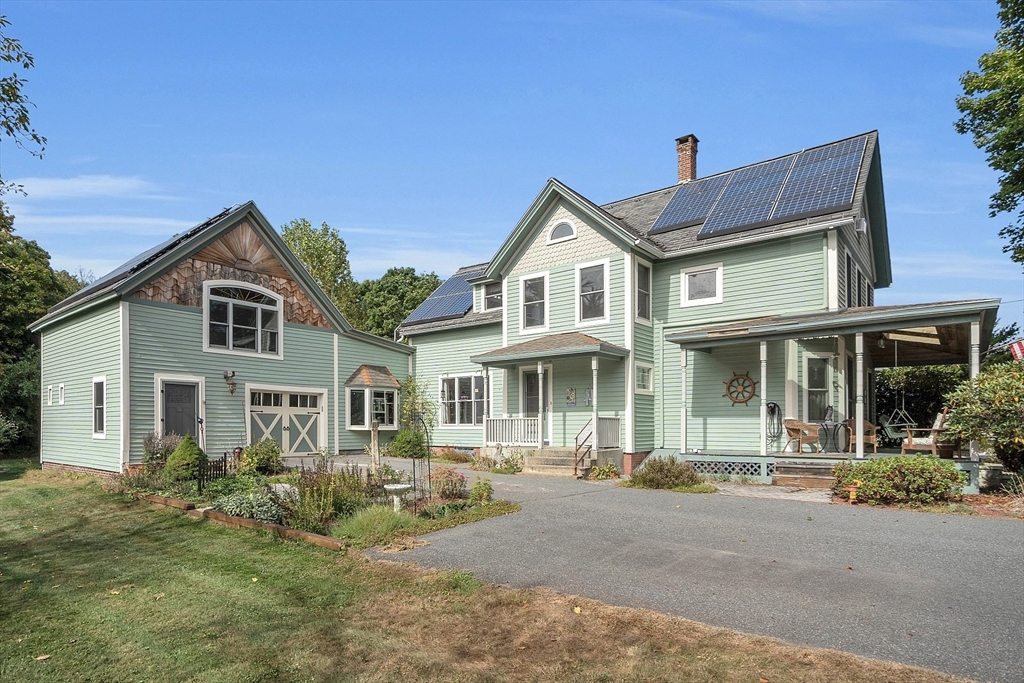
[[[503,372],[503,415],[488,403],[485,447],[622,449],[629,351],[578,332],[545,335],[471,356],[488,378]]]

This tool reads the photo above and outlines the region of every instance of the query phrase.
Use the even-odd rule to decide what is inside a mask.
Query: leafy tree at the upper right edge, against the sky
[[[988,205],[993,217],[1016,211],[1024,199],[1024,0],[998,3],[995,50],[981,55],[978,72],[961,76],[964,94],[956,109],[964,116],[954,124],[956,132],[974,136],[988,165],[1001,173]],[[1024,210],[999,237],[1008,241],[1002,249],[1010,258],[1024,263]]]

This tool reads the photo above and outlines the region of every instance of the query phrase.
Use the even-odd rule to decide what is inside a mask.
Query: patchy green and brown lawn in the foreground
[[[761,678],[952,680],[370,562],[0,461],[4,683]]]

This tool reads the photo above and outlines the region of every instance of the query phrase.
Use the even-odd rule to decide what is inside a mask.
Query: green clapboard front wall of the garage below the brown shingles
[[[324,390],[328,439],[334,443],[334,332],[285,325],[284,360],[203,351],[200,308],[131,301],[131,461],[141,462],[142,438],[156,428],[155,376],[206,378],[206,445],[219,456],[246,442],[246,383]],[[228,391],[224,372],[234,372],[237,390]]]

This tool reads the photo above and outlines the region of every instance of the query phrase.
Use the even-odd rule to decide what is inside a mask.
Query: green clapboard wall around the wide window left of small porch
[[[462,330],[446,330],[416,335],[412,338],[416,348],[416,379],[427,395],[438,400],[440,397],[440,377],[453,375],[479,374],[480,366],[471,361],[470,356],[493,351],[502,345],[501,323]],[[490,395],[494,397],[492,415],[503,414],[502,376],[500,370],[492,373]],[[477,447],[483,444],[482,426],[445,426],[439,424],[430,435],[432,445]]]

